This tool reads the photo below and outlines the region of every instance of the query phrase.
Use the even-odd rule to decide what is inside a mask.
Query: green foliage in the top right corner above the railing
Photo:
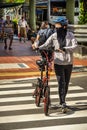
[[[87,11],[84,11],[83,1],[80,1],[79,24],[87,24]]]

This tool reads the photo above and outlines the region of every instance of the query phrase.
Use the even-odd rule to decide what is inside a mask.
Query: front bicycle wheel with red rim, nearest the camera
[[[46,87],[44,92],[44,114],[46,116],[48,115],[49,105],[50,105],[50,88]]]

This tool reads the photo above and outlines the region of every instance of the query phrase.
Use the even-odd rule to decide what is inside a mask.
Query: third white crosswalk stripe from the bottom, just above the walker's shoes
[[[36,107],[35,104],[24,104],[24,105],[9,105],[0,106],[1,111],[15,111],[15,110],[29,110],[29,109],[41,109],[43,107],[43,102],[40,103],[41,107]],[[67,101],[67,105],[72,106],[83,106],[87,105],[87,100],[77,100],[77,101]],[[59,106],[58,102],[53,102],[52,106]]]

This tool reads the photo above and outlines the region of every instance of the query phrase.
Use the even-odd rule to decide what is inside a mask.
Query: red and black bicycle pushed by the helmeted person
[[[50,79],[50,72],[52,71],[53,48],[42,50],[40,53],[42,55],[42,59],[37,60],[36,64],[38,65],[41,74],[40,78],[37,79],[37,83],[35,84],[33,96],[35,96],[35,104],[37,107],[40,106],[41,99],[43,98],[44,114],[47,116],[48,109],[51,104],[50,87],[48,85],[48,82]],[[43,74],[44,71],[45,76]]]

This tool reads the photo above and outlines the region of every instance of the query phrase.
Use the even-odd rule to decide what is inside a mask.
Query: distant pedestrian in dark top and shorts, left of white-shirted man
[[[6,16],[6,20],[4,22],[4,49],[7,49],[7,39],[10,39],[9,43],[9,50],[12,50],[12,42],[13,42],[13,35],[14,35],[14,24],[12,20],[10,20],[10,16]]]

